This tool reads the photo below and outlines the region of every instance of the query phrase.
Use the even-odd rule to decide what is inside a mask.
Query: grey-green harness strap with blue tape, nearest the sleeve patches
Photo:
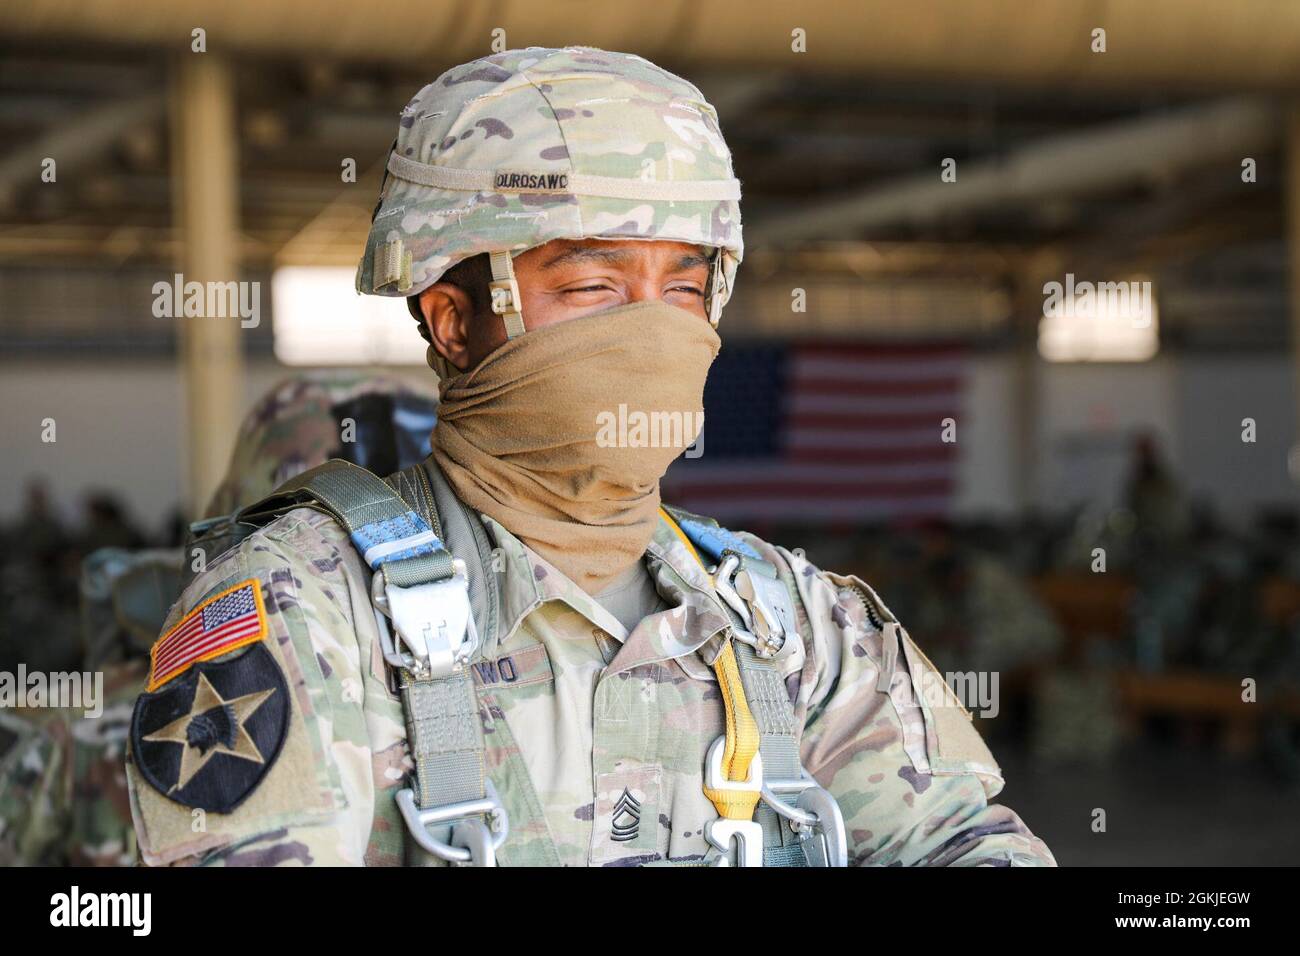
[[[434,531],[432,497],[424,501],[426,522],[386,481],[339,459],[303,472],[273,496],[286,497],[324,506],[374,571],[376,624],[384,658],[399,676],[415,762],[412,786],[396,795],[412,838],[448,862],[494,864],[508,821],[486,777],[482,723],[467,666],[478,644],[467,571]]]

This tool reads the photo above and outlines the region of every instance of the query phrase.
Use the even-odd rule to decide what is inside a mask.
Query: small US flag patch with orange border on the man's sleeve
[[[159,637],[150,652],[153,692],[199,661],[211,661],[266,636],[266,607],[256,578],[213,594]]]

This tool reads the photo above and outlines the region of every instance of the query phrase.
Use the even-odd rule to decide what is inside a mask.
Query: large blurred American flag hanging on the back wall
[[[956,346],[724,347],[705,388],[699,458],[663,499],[737,520],[874,523],[942,516],[957,480],[966,355]]]

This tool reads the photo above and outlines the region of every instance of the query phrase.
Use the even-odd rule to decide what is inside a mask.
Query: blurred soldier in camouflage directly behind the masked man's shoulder
[[[183,580],[234,538],[229,514],[330,458],[398,468],[429,453],[437,397],[384,376],[330,372],[272,389],[187,549],[101,548],[82,566],[82,670],[103,671],[103,714],[0,710],[0,865],[135,862],[126,791],[131,706]],[[30,519],[29,519],[30,520]],[[195,550],[198,549],[198,550]]]

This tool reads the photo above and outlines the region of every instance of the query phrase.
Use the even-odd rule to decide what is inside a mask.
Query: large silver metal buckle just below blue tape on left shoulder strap
[[[380,628],[384,659],[411,671],[416,680],[458,674],[478,646],[465,562],[452,559],[451,567],[450,578],[407,588],[390,584],[382,567],[370,579],[370,600],[396,631],[394,640],[387,628]]]

